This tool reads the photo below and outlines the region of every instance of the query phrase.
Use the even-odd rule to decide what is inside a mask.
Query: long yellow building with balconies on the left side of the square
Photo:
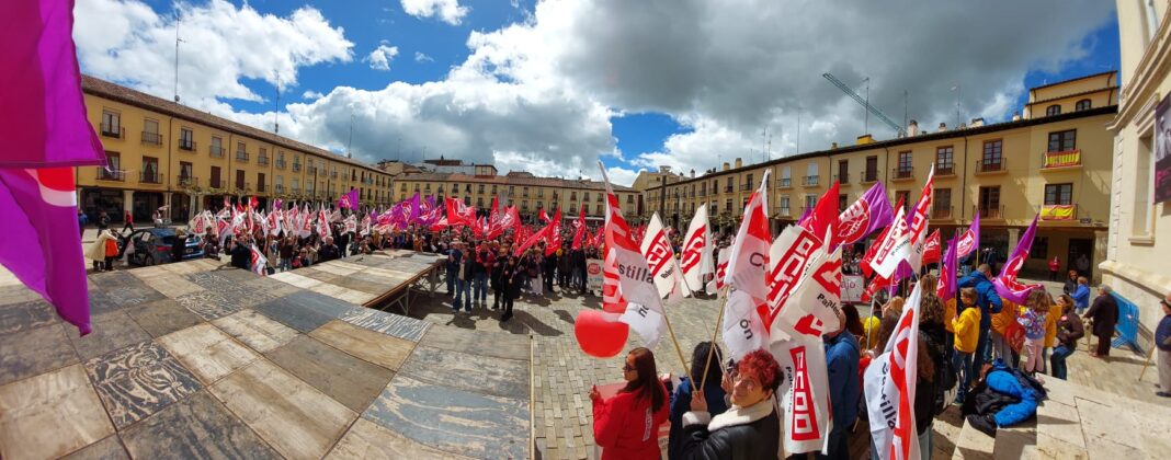
[[[105,211],[117,221],[125,210],[148,221],[170,205],[183,221],[224,197],[333,202],[351,187],[365,204],[390,204],[391,177],[375,166],[95,77],[83,76],[82,89],[108,162],[76,169],[78,206],[91,220]]]

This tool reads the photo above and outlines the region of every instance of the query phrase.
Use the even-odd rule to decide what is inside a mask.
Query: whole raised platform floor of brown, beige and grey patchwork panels
[[[78,337],[14,281],[0,274],[0,458],[530,454],[527,336],[197,260],[89,276]]]

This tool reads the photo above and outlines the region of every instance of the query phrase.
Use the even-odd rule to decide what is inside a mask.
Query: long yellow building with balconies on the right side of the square
[[[1105,125],[1117,112],[1117,96],[1116,73],[1090,75],[1030,90],[1030,105],[1057,104],[1060,114],[1026,110],[1028,116],[1004,123],[978,118],[959,129],[940,124],[936,132],[923,132],[912,121],[902,138],[861,136],[856,145],[752,165],[737,160],[734,167],[725,164],[720,171],[649,187],[648,212],[685,228],[696,207],[707,204],[713,227],[734,232],[767,170],[768,212],[773,231],[780,232],[834,181],[843,210],[877,181],[885,185],[891,205],[902,198],[913,206],[934,164],[930,225],[940,228],[945,240],[979,215],[981,246],[994,248],[1004,261],[1040,214],[1026,270],[1041,273],[1046,260],[1056,255],[1070,268],[1086,262],[1087,274],[1097,279],[1093,267],[1105,260],[1114,164]],[[1090,103],[1078,105],[1082,99]]]

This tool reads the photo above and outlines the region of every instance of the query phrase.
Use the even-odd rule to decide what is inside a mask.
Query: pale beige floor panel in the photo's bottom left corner
[[[81,365],[0,386],[5,459],[57,458],[110,434],[114,425]]]

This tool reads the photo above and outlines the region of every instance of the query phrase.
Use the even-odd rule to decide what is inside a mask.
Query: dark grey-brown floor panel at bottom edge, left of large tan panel
[[[135,424],[122,439],[139,459],[281,458],[206,391]]]

